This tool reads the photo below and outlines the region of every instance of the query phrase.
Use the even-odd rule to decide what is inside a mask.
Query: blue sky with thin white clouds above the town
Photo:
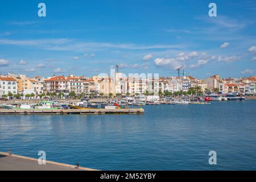
[[[46,3],[46,17],[38,4]],[[217,5],[217,17],[208,5]],[[256,73],[255,1],[5,1],[0,73]]]

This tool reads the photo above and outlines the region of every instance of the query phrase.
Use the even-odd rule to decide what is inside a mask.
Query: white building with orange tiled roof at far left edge
[[[18,84],[14,77],[0,77],[0,96],[18,94]]]

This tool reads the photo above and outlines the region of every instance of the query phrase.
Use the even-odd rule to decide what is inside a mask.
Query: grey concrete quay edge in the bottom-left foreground
[[[47,161],[38,164],[38,159],[0,152],[0,171],[98,171],[96,169]]]

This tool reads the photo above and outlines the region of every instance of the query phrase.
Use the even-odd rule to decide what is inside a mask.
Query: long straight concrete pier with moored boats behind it
[[[143,114],[144,109],[0,109],[0,114]]]

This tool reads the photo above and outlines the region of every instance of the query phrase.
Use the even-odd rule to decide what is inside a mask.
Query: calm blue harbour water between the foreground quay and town
[[[106,170],[256,169],[256,100],[142,115],[1,115],[0,151]],[[210,166],[208,153],[217,152]]]

